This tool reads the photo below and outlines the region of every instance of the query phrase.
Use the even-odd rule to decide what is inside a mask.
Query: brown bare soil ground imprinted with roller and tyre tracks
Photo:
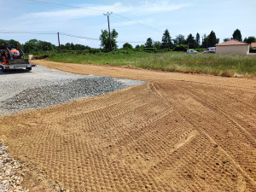
[[[0,119],[28,189],[256,191],[255,80],[37,63],[148,83]]]

